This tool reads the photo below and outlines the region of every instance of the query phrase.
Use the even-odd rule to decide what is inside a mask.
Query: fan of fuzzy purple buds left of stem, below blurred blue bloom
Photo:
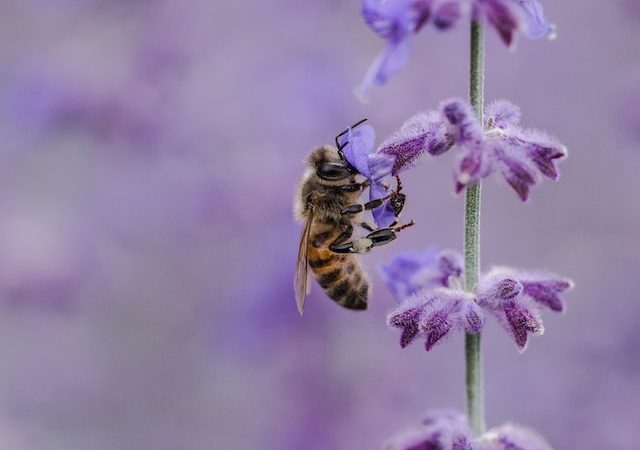
[[[469,292],[424,289],[396,308],[387,323],[402,330],[402,348],[423,337],[429,351],[452,333],[478,333],[484,326],[484,315]]]

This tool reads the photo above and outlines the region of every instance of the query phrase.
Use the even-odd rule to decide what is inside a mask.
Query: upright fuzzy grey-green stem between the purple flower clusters
[[[469,99],[482,123],[484,107],[484,30],[471,21],[471,64]],[[472,291],[480,274],[480,183],[467,187],[464,199],[464,273],[465,289]],[[465,336],[467,416],[471,428],[479,436],[485,431],[484,386],[482,382],[481,336]]]

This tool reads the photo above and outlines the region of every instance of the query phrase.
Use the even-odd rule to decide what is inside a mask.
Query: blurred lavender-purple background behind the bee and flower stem
[[[526,205],[485,183],[483,265],[572,277],[518,354],[485,333],[489,425],[556,449],[636,450],[640,420],[640,8],[543,0],[553,42],[487,34],[487,99],[570,150]],[[368,105],[383,42],[359,2],[0,3],[0,448],[375,449],[464,408],[463,343],[405,350],[376,265],[459,248],[452,156],[405,177],[418,225],[363,256],[370,310],[292,278],[303,158],[368,117],[381,140],[467,92],[468,30],[425,29]]]

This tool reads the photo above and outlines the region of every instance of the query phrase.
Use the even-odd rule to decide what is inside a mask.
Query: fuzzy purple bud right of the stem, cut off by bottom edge
[[[474,447],[475,448],[475,447]],[[536,431],[506,423],[492,428],[478,439],[478,450],[552,450]]]

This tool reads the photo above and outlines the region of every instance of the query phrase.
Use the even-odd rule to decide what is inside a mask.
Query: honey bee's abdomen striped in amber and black
[[[309,267],[318,284],[336,303],[348,309],[367,309],[369,282],[355,256],[329,250],[329,244],[339,234],[334,229],[309,237]]]

